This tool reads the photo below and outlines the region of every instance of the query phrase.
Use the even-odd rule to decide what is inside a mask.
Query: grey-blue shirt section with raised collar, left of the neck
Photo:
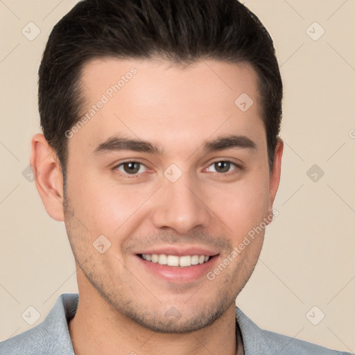
[[[35,327],[0,343],[1,355],[73,355],[68,329],[78,294],[60,295],[46,318]]]

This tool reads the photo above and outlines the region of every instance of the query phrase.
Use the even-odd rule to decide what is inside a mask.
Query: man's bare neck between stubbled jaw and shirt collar
[[[69,333],[76,355],[219,354],[237,351],[234,304],[209,327],[187,334],[157,333],[118,314],[99,295],[80,293]]]

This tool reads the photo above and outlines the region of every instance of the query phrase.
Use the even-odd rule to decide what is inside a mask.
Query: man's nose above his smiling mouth
[[[211,211],[197,184],[191,184],[187,174],[176,182],[164,181],[153,208],[155,227],[187,234],[195,227],[209,225]]]

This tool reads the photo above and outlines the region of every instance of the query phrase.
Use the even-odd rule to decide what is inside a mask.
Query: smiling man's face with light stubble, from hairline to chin
[[[256,73],[107,58],[82,79],[64,199],[79,291],[161,332],[234,313],[276,193]]]

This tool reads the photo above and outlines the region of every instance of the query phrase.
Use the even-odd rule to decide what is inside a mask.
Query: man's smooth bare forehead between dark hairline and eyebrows
[[[100,58],[85,65],[81,80],[87,119],[69,144],[94,148],[117,133],[180,148],[223,133],[265,140],[257,74],[248,64]]]

